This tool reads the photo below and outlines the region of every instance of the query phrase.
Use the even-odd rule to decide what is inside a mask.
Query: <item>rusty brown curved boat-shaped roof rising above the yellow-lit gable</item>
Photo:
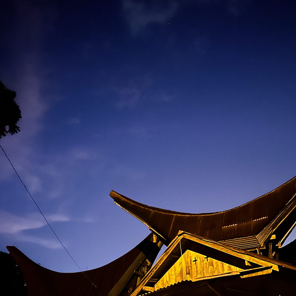
[[[215,241],[255,236],[273,221],[292,199],[296,200],[293,196],[295,192],[296,176],[271,192],[239,207],[202,214],[179,213],[150,207],[113,190],[110,196],[116,204],[146,224],[151,231],[159,234],[168,245],[180,229]],[[277,227],[280,222],[273,227]],[[271,233],[272,230],[268,231]]]

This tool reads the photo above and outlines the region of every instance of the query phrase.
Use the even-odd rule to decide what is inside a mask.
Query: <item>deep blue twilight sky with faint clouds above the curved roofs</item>
[[[82,269],[149,234],[110,189],[203,213],[296,175],[295,13],[294,1],[2,6],[0,79],[23,118],[1,145]],[[78,271],[2,152],[0,188],[0,249]]]

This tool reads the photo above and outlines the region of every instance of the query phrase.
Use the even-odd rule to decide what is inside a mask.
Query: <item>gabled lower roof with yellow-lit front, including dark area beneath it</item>
[[[293,295],[295,276],[289,263],[179,231],[131,296]]]

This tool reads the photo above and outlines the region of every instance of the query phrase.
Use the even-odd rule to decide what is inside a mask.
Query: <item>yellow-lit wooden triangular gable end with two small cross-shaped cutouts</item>
[[[243,279],[279,271],[277,264],[264,259],[180,231],[131,296],[156,292],[182,281],[195,282],[232,275]]]

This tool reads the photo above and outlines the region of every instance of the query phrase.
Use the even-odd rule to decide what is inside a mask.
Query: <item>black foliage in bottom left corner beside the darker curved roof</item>
[[[19,266],[10,254],[2,251],[0,251],[0,295],[28,295]]]

